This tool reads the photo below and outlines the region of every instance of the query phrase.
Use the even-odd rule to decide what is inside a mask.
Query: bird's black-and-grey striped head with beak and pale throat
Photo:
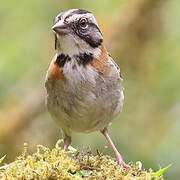
[[[83,9],[70,9],[58,14],[52,30],[55,33],[55,48],[64,53],[95,49],[103,41],[95,17]]]

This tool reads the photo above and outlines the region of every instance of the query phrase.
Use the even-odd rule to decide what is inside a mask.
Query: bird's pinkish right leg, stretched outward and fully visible
[[[101,133],[105,136],[106,140],[108,141],[108,143],[111,145],[113,151],[114,151],[114,154],[115,154],[115,157],[116,157],[116,161],[118,164],[121,164],[123,166],[123,168],[131,168],[129,165],[127,165],[123,159],[122,159],[122,156],[121,154],[118,152],[118,150],[116,149],[114,143],[112,142],[109,134],[108,134],[108,130],[107,128],[104,128]]]

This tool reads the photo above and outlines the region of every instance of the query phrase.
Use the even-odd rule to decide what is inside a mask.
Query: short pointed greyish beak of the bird
[[[58,21],[56,24],[54,24],[52,30],[60,35],[65,35],[69,32],[68,24],[65,24],[63,21]]]

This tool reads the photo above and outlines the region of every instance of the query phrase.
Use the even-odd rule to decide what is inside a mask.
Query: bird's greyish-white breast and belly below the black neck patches
[[[79,65],[73,59],[60,70],[51,63],[46,89],[48,109],[66,131],[103,129],[120,111],[124,99],[118,78],[104,76],[92,64]]]

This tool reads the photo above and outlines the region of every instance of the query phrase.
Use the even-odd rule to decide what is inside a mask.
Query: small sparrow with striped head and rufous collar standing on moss
[[[55,17],[52,31],[56,54],[46,74],[46,104],[63,131],[64,150],[72,133],[100,131],[117,163],[130,168],[108,133],[109,124],[122,110],[123,79],[94,15],[84,9],[63,11]]]

